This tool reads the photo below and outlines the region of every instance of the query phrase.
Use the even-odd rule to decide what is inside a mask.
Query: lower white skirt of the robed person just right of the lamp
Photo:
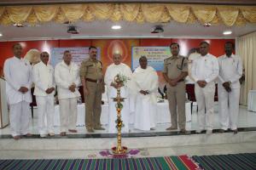
[[[156,104],[143,98],[143,94],[137,95],[134,127],[140,130],[150,130],[155,127]]]

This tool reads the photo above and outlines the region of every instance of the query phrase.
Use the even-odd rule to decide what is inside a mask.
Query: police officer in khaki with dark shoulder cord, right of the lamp
[[[179,45],[172,43],[170,45],[172,57],[165,59],[163,77],[167,83],[167,99],[169,101],[169,109],[171,112],[172,127],[166,130],[177,129],[181,133],[186,133],[186,86],[184,78],[188,75],[188,61],[179,55]]]

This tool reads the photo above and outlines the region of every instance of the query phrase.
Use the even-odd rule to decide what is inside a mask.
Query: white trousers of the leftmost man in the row
[[[10,128],[13,137],[29,133],[30,114],[29,103],[26,101],[10,105]]]

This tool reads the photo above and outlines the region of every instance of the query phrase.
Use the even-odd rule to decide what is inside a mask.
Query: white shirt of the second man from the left
[[[46,94],[48,88],[55,88],[54,84],[54,68],[51,65],[45,65],[43,61],[33,66],[33,82],[35,83],[34,95],[47,96],[54,95],[55,91],[51,94]]]

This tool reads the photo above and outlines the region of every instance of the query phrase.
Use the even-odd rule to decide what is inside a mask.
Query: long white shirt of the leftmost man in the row
[[[32,67],[30,63],[26,59],[18,59],[17,57],[6,59],[3,73],[6,80],[6,94],[9,105],[21,101],[31,103]],[[28,88],[28,92],[22,94],[19,91],[20,87]]]

